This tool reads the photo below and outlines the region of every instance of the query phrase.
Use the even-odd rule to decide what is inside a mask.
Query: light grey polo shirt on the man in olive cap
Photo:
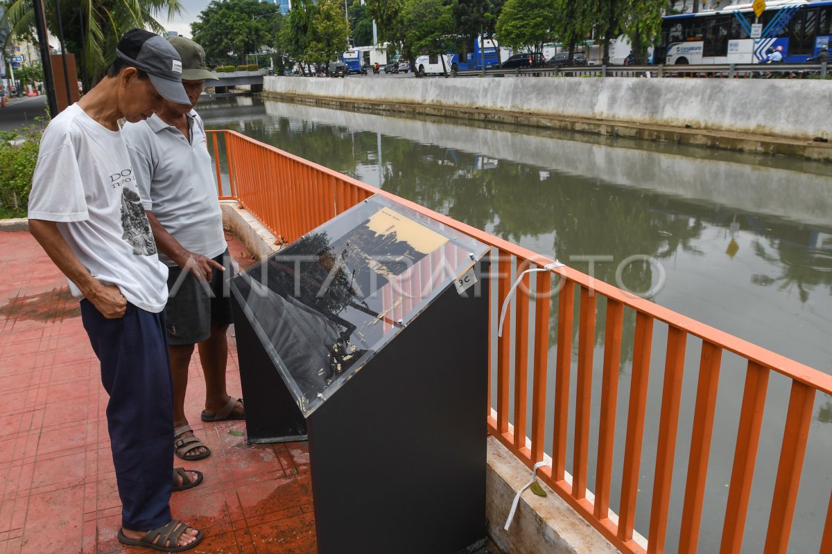
[[[225,252],[222,212],[205,129],[191,110],[191,141],[174,125],[153,114],[139,123],[126,123],[121,132],[145,209],[190,252],[217,257]],[[168,266],[176,265],[159,252]]]

